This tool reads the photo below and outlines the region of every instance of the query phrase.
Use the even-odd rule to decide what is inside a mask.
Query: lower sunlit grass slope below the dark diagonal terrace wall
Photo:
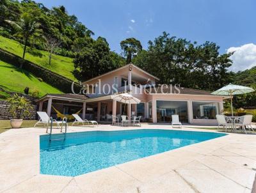
[[[32,73],[3,61],[0,61],[0,77],[0,87],[6,91],[24,93],[24,88],[28,87],[29,91],[39,91],[40,96],[46,93],[61,93],[59,89],[45,82],[40,82]],[[1,92],[0,95],[4,96],[6,93]]]

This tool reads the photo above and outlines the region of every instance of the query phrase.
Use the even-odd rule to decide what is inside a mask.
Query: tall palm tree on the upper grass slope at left
[[[17,33],[24,37],[25,42],[22,56],[22,59],[24,59],[29,38],[37,31],[40,24],[36,22],[35,18],[29,15],[29,13],[22,13],[19,22],[14,22],[12,20],[5,21],[15,27]],[[22,65],[20,65],[20,68],[22,68]]]

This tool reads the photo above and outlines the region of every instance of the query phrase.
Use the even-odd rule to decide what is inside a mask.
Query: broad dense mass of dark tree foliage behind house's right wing
[[[133,63],[161,77],[160,83],[180,84],[187,88],[214,90],[230,81],[231,54],[220,54],[216,43],[196,42],[168,33],[148,42],[148,49],[138,52]]]

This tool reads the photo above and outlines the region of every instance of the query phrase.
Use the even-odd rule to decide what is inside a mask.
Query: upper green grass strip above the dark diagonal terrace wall
[[[19,42],[16,42],[15,40],[10,40],[0,36],[0,48],[22,57],[23,45]],[[74,70],[74,63],[72,58],[52,54],[52,64],[50,66],[48,65],[48,52],[43,50],[38,50],[38,52],[42,54],[41,57],[33,56],[26,52],[25,59],[36,63],[37,65],[43,66],[53,72],[59,73],[60,75],[63,75],[69,79],[76,80],[72,74]]]

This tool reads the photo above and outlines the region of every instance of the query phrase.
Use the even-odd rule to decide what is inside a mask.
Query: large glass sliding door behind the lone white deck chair
[[[157,122],[170,123],[172,115],[178,114],[182,123],[188,123],[188,103],[186,101],[157,100]]]

